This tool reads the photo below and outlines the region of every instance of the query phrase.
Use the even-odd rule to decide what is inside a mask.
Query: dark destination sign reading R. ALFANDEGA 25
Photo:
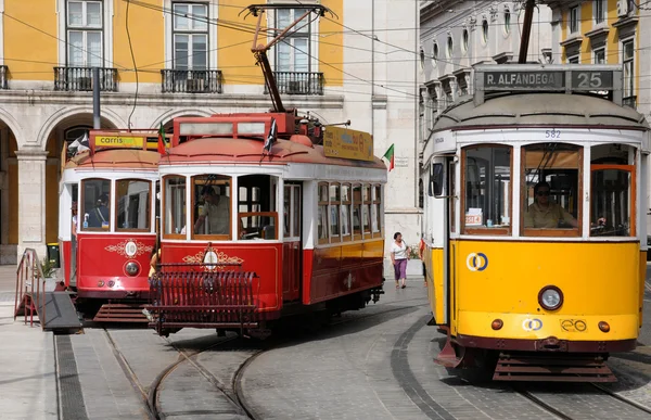
[[[484,72],[484,90],[611,90],[611,71],[570,71],[567,80],[564,71],[503,71]]]

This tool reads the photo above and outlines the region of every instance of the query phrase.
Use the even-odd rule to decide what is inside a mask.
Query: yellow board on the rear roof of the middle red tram
[[[373,161],[373,136],[341,127],[326,127],[323,153],[328,157]]]

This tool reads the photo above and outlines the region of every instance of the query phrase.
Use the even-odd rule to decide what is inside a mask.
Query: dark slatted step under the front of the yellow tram
[[[500,355],[495,381],[538,382],[616,382],[617,379],[600,357],[540,357]]]

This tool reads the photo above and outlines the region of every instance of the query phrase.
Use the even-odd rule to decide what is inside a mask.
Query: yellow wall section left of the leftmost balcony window
[[[54,79],[52,67],[58,65],[56,42],[59,42],[55,38],[56,14],[54,12],[55,5],[52,0],[7,0],[4,2],[4,64],[9,66],[12,79]]]

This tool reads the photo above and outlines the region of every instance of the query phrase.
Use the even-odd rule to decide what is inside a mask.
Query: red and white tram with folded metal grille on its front
[[[378,301],[386,167],[329,157],[307,131],[291,112],[174,120],[148,307],[159,334],[264,335],[284,315]]]

